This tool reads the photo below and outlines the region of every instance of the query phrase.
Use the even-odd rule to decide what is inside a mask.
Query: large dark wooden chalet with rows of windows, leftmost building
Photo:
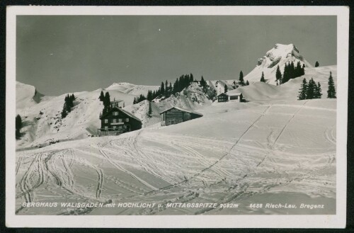
[[[100,116],[101,128],[98,135],[120,135],[123,132],[130,132],[142,128],[142,121],[132,113],[122,108],[110,108],[107,113]]]

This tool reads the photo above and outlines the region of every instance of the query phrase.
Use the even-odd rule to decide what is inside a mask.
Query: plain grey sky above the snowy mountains
[[[17,16],[16,80],[40,93],[181,74],[238,79],[275,43],[336,64],[336,16]]]

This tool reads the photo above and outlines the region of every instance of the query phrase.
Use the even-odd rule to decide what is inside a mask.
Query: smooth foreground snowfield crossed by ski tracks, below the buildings
[[[213,103],[202,118],[16,153],[21,215],[333,214],[336,100]],[[21,208],[42,203],[165,208]],[[234,203],[239,208],[166,208]],[[296,209],[250,208],[287,203]],[[301,203],[324,209],[299,208]]]

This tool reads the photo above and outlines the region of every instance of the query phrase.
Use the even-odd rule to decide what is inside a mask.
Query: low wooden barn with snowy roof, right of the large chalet
[[[160,113],[161,126],[174,125],[183,123],[187,120],[193,120],[195,118],[201,118],[202,114],[192,110],[185,110],[182,108],[171,107]]]

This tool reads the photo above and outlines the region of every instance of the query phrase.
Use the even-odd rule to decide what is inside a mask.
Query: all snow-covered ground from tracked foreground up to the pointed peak
[[[283,71],[290,61],[304,63],[305,75],[272,85],[276,66]],[[258,81],[261,72],[265,83]],[[251,84],[237,89],[244,103],[212,102],[193,82],[176,96],[154,99],[148,115],[149,101],[132,102],[159,86],[118,83],[74,93],[74,108],[64,119],[60,112],[67,94],[43,96],[34,86],[17,82],[16,113],[23,118],[23,135],[16,140],[16,214],[335,214],[336,99],[326,98],[330,72],[336,84],[336,65],[311,67],[295,45],[277,44],[245,76]],[[304,78],[321,84],[322,98],[297,101]],[[234,81],[207,83],[222,93],[225,85],[232,90]],[[123,101],[124,109],[142,120],[142,129],[93,137],[101,124],[101,91]],[[171,106],[203,116],[161,127],[159,113]],[[61,203],[156,205],[93,208]],[[183,203],[216,206],[188,208]]]

